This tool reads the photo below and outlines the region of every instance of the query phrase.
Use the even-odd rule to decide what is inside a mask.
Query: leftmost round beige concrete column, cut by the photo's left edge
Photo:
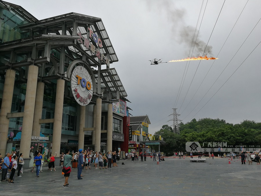
[[[14,78],[15,71],[11,69],[6,70],[6,78],[4,83],[0,112],[0,153],[2,154],[2,156],[5,156],[6,153],[6,142],[9,127],[9,118],[6,118],[6,116],[7,113],[11,112],[12,98],[14,92]]]

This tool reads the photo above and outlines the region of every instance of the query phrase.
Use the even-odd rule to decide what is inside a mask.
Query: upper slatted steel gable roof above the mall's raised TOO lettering
[[[102,40],[103,47],[100,48],[100,52],[102,54],[109,54],[110,55],[110,63],[117,62],[118,58],[114,51],[114,48],[110,42],[110,38],[106,32],[104,24],[101,18],[96,18],[92,16],[87,16],[78,13],[68,13],[64,15],[59,15],[39,21],[34,21],[28,24],[23,24],[19,26],[21,30],[30,30],[32,29],[33,33],[44,33],[48,29],[48,35],[77,35],[75,32],[75,26],[77,23],[77,32],[81,32],[81,35],[84,38],[88,38],[88,27],[93,31],[93,33],[97,33],[100,35]],[[65,27],[66,26],[66,27]],[[62,28],[65,27],[66,33],[62,32]],[[75,34],[76,33],[76,34]],[[92,43],[97,46],[92,40]],[[81,52],[84,51],[90,57],[94,58],[98,61],[96,55],[92,55],[90,50],[84,48],[82,45],[79,47],[71,46],[69,49],[72,52],[77,53],[78,55],[82,55]],[[95,62],[90,61],[90,65],[95,65]]]

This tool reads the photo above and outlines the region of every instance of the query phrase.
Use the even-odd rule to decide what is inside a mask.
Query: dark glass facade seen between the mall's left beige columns
[[[18,74],[17,74],[18,75]],[[2,103],[3,97],[3,85],[4,85],[3,74],[0,74],[0,104]],[[54,118],[55,112],[55,92],[56,92],[56,81],[52,81],[50,84],[45,84],[44,87],[44,100],[42,119]],[[12,98],[11,113],[23,112],[26,96],[26,83],[21,83],[18,78],[14,83],[14,93]],[[77,103],[75,99],[65,97],[63,107],[63,119],[62,119],[62,134],[65,135],[76,135],[76,123],[77,123]],[[9,131],[16,133],[20,132],[19,127],[23,124],[23,117],[10,118]],[[52,134],[53,123],[41,124],[41,132],[43,134]],[[20,138],[18,138],[20,139]]]

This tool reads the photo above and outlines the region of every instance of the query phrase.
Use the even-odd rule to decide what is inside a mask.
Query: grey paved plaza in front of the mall
[[[203,157],[204,158],[204,157]],[[235,159],[237,161],[238,159]],[[141,162],[118,161],[119,167],[83,170],[82,180],[72,169],[69,184],[63,188],[61,168],[15,175],[15,184],[0,183],[0,195],[261,195],[261,165],[228,164],[228,158],[190,162],[166,158],[157,165],[150,157]]]

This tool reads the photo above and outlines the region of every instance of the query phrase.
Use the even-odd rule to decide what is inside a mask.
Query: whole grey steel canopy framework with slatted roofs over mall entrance
[[[95,103],[95,97],[102,98],[103,103],[117,102],[119,98],[127,100],[127,93],[115,68],[110,69],[109,66],[118,58],[101,18],[71,12],[37,20],[21,6],[1,2],[8,9],[21,13],[21,17],[25,15],[30,22],[18,25],[27,37],[0,44],[4,59],[10,57],[4,65],[0,65],[0,70],[15,69],[21,73],[21,69],[35,64],[41,70],[38,80],[50,83],[50,80],[58,78],[70,81],[71,71],[77,65],[82,65],[88,67],[93,73],[93,81],[96,81],[91,103]],[[97,35],[101,44],[95,42],[93,34]],[[95,46],[95,52],[82,44],[85,40],[90,46]],[[107,58],[108,62],[99,59],[97,53]],[[17,56],[23,56],[24,59],[17,60]],[[101,69],[102,65],[106,65],[106,69]],[[26,81],[26,73],[20,78]]]

